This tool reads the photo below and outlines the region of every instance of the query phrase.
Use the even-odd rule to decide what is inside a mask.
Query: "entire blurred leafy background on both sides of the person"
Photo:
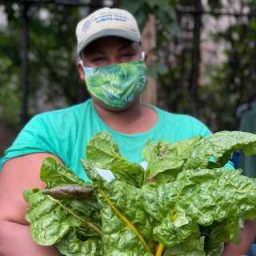
[[[89,95],[79,81],[75,26],[111,1],[0,1],[0,155],[22,122],[22,8],[30,4],[28,119],[42,111],[70,106]],[[253,0],[114,0],[145,26],[156,17],[155,61],[148,69],[158,82],[158,106],[192,114],[213,131],[237,130],[238,107],[256,94],[256,2]],[[76,6],[79,4],[80,6]],[[233,12],[236,15],[231,15]],[[208,31],[207,21],[230,18],[225,29]],[[210,56],[202,51],[210,42]],[[217,60],[217,61],[216,61]]]

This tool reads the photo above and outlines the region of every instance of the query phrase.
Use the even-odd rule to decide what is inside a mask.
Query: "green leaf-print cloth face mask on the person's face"
[[[146,87],[146,66],[143,60],[83,69],[90,94],[108,106],[124,107],[133,102]]]

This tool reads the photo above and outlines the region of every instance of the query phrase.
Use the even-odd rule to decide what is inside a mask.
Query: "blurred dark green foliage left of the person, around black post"
[[[6,2],[7,26],[0,30],[1,120],[21,129],[22,10],[21,2]],[[88,98],[79,82],[75,27],[81,12],[74,6],[30,4],[28,50],[28,113],[70,106]]]

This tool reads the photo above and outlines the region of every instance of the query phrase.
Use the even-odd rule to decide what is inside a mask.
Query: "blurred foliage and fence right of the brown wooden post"
[[[171,20],[169,25],[166,22],[160,26],[160,30],[158,26],[155,49],[158,62],[152,68],[154,76],[158,76],[158,105],[169,111],[192,114],[214,132],[237,130],[238,107],[256,99],[256,2],[236,2],[241,15],[231,16],[229,9],[222,14],[222,1],[209,1],[205,12],[201,1],[180,0],[174,5],[178,14],[177,22],[172,24],[178,23],[179,30],[174,29],[178,33],[161,30],[170,27]],[[242,10],[248,15],[243,15]],[[212,31],[207,38],[216,55],[222,55],[216,57],[217,61],[209,57],[202,62],[206,52],[200,46],[202,31],[207,30],[206,16],[229,25]],[[232,22],[223,21],[227,17]],[[160,23],[163,22],[161,19]]]

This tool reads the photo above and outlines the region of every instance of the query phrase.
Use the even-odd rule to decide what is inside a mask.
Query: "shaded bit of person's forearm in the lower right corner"
[[[250,244],[254,242],[256,237],[256,219],[254,221],[246,221],[242,229],[242,237],[239,245],[228,242],[222,256],[241,256],[248,252]]]

